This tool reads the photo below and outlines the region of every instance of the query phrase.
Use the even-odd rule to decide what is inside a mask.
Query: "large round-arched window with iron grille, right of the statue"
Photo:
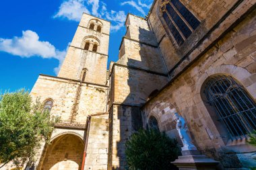
[[[256,103],[232,77],[211,77],[203,92],[232,138],[242,138],[256,129]]]

